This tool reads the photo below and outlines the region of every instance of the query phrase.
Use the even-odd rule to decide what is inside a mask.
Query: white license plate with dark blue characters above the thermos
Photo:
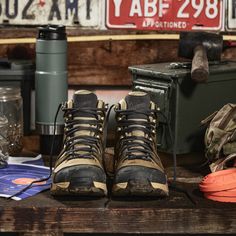
[[[97,0],[1,0],[0,23],[98,27],[100,4]]]

